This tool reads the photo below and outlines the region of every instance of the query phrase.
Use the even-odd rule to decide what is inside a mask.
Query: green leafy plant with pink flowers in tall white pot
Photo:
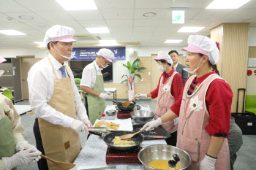
[[[122,63],[123,66],[125,66],[128,71],[129,71],[129,76],[124,74],[122,76],[126,77],[127,79],[123,80],[121,83],[123,82],[127,82],[128,83],[128,96],[129,96],[129,100],[131,100],[132,98],[134,98],[134,80],[135,77],[139,77],[141,80],[141,76],[140,74],[138,74],[138,72],[142,72],[144,69],[146,69],[145,67],[139,67],[139,63],[140,63],[140,59],[137,58],[132,64],[128,61],[127,65]]]

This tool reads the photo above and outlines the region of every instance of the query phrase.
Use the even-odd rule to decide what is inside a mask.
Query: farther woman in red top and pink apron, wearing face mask
[[[157,120],[158,117],[167,112],[170,107],[178,100],[183,90],[182,77],[181,74],[175,72],[172,68],[173,60],[170,55],[160,51],[157,58],[154,59],[158,62],[158,69],[163,72],[157,88],[147,94],[139,94],[138,98],[157,98],[157,106],[155,109],[154,119]],[[166,131],[170,133],[170,138],[165,139],[167,144],[176,146],[177,143],[177,128],[178,128],[178,118],[175,120],[169,120],[162,125]]]

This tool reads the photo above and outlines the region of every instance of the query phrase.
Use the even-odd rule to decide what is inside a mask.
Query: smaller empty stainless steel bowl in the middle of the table
[[[145,124],[151,121],[155,114],[147,110],[135,110],[134,112],[130,112],[129,115],[132,116],[132,119],[135,120],[136,123]]]

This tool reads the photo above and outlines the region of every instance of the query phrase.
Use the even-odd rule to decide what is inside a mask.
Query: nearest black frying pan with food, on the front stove
[[[95,134],[97,136],[102,136],[102,133],[95,132],[95,131],[89,131],[90,134]],[[107,134],[104,136],[103,141],[105,144],[108,145],[108,147],[113,148],[115,150],[132,150],[135,147],[138,147],[142,142],[143,142],[143,136],[140,134],[136,134],[135,136],[132,137],[132,140],[135,142],[134,145],[131,147],[117,147],[113,144],[113,139],[115,139],[115,136],[121,136],[124,134],[132,134],[131,131],[116,131],[112,132],[110,134]]]

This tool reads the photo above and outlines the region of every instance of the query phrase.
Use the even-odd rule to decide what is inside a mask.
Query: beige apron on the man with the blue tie
[[[48,57],[50,65],[53,63]],[[75,100],[73,88],[69,77],[57,79],[54,71],[54,90],[53,96],[48,101],[50,107],[69,117],[76,119]],[[38,117],[39,130],[42,137],[42,145],[45,155],[56,161],[73,163],[81,150],[80,136],[72,128],[62,125],[53,125],[47,120]],[[47,161],[50,170],[58,169],[50,161]]]

